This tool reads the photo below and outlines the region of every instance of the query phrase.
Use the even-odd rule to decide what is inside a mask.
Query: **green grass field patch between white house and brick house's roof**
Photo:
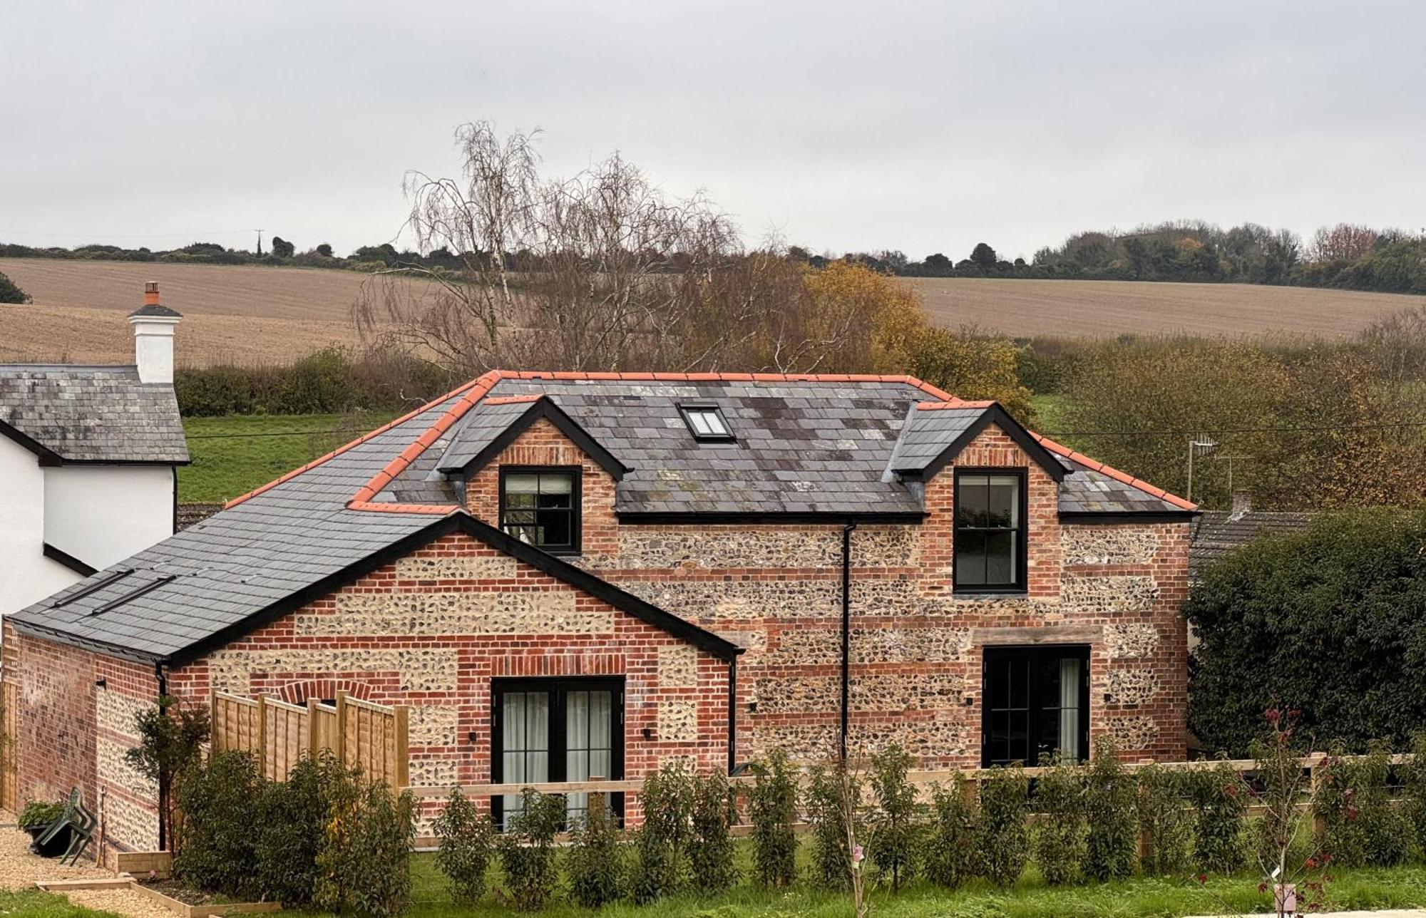
[[[178,500],[218,503],[307,465],[391,413],[184,418],[193,463],[178,469]]]

